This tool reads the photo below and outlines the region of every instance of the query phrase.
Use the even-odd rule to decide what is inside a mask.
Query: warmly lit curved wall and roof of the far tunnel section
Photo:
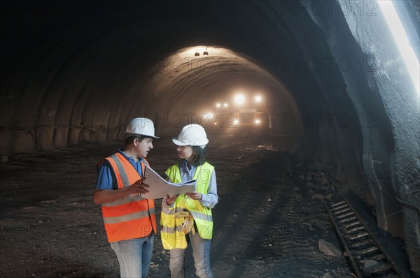
[[[194,57],[195,49],[200,48],[208,48],[209,55]],[[148,78],[134,85],[132,91],[146,96],[144,101],[150,103],[146,105],[148,110],[130,113],[134,117],[144,112],[146,117],[153,118],[160,134],[172,135],[190,122],[204,127],[216,124],[217,129],[233,128],[230,125],[234,117],[229,113],[233,110],[219,111],[212,119],[207,113],[215,113],[214,105],[218,101],[233,105],[234,93],[244,90],[264,96],[263,105],[272,111],[273,129],[277,134],[302,135],[302,128],[280,126],[281,114],[299,113],[293,96],[244,54],[222,47],[188,47],[159,61],[146,76]]]

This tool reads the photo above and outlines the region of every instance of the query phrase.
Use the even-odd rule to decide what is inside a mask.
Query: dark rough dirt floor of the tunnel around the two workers
[[[169,138],[148,161],[160,174],[176,161]],[[101,210],[92,201],[96,164],[119,144],[10,157],[1,165],[0,277],[118,277]],[[210,137],[219,203],[213,210],[215,277],[353,277],[323,200],[295,172],[293,138]],[[155,200],[158,221],[160,203]],[[186,276],[195,277],[188,251]],[[169,277],[169,254],[155,237],[149,277]]]

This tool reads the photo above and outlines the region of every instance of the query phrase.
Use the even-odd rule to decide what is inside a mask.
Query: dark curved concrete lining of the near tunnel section
[[[174,100],[210,100],[211,89],[250,76],[256,64],[261,77],[278,83],[268,86],[280,92],[276,100],[288,103],[286,128],[302,126],[304,153],[353,177],[363,173],[366,180],[349,185],[367,186],[379,227],[405,237],[410,261],[420,261],[419,96],[377,31],[379,15],[357,13],[360,6],[348,1],[332,1],[323,13],[309,3],[10,4],[2,19],[0,152],[120,139],[139,111],[159,118],[180,111]],[[214,64],[156,89],[160,61],[195,45],[231,50],[242,61],[238,71],[228,75]],[[319,117],[323,124],[311,122]],[[397,210],[403,234],[401,217],[388,217]]]

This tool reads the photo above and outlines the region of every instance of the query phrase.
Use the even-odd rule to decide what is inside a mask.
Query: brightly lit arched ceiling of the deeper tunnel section
[[[202,57],[195,57],[195,53]],[[267,105],[277,103],[275,111],[298,113],[293,96],[278,80],[244,54],[223,47],[186,47],[158,61],[146,77],[130,90],[132,96],[137,95],[130,103],[132,116],[143,112],[170,117],[176,113],[196,119],[214,112],[217,101],[232,104],[235,92],[262,94]],[[159,105],[151,111],[153,103]],[[142,108],[144,104],[146,110]]]

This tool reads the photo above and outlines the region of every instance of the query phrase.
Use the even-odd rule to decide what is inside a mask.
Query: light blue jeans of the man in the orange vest
[[[147,237],[110,243],[120,263],[121,277],[147,277],[152,261],[153,240],[155,233],[152,232]]]

